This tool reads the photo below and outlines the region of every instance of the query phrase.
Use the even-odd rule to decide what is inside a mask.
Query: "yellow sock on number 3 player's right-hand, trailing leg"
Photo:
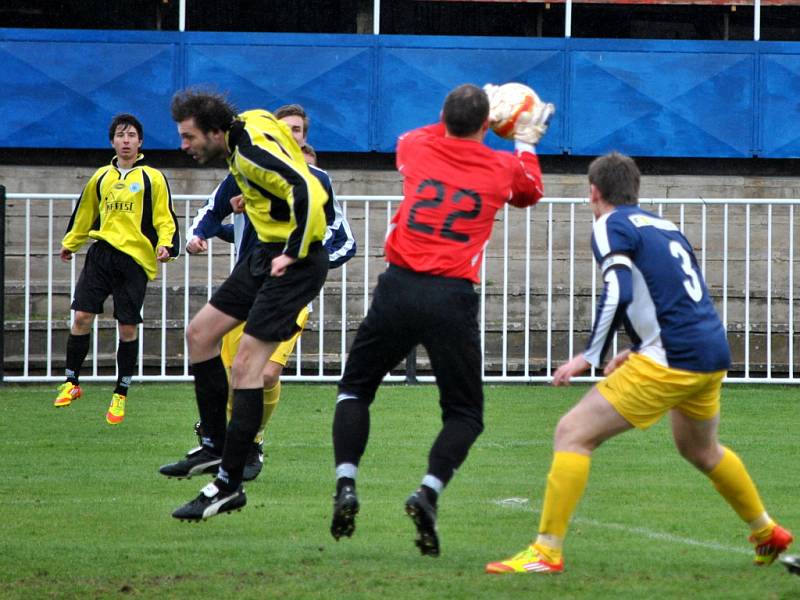
[[[775,525],[766,514],[747,469],[733,450],[723,447],[722,459],[708,473],[708,478],[753,533],[763,530],[769,536]]]

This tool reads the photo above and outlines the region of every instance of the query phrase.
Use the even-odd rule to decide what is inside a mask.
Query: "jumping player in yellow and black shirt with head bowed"
[[[172,513],[200,520],[246,504],[242,473],[264,409],[263,370],[279,343],[297,331],[297,314],[319,293],[328,272],[322,246],[328,194],[306,165],[289,128],[265,110],[236,114],[221,95],[194,90],[172,99],[181,149],[205,164],[225,158],[260,245],[195,315],[186,332],[195,394],[203,423],[202,449],[186,457],[189,477],[216,479]],[[231,368],[233,411],[225,419],[228,381],[222,337],[242,321],[244,334]]]

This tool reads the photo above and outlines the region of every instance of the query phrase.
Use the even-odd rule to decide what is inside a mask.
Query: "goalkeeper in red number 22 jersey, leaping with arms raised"
[[[422,554],[439,554],[437,500],[483,430],[473,284],[497,211],[506,202],[523,208],[542,197],[534,144],[546,129],[546,123],[520,123],[514,153],[492,150],[483,143],[489,108],[484,90],[461,85],[445,98],[440,123],[398,140],[404,199],[386,238],[389,266],[350,348],[333,420],[337,482],[331,534],[337,540],[355,529],[356,474],[367,445],[370,404],[384,375],[417,344],[431,360],[443,423],[422,485],[405,504]]]

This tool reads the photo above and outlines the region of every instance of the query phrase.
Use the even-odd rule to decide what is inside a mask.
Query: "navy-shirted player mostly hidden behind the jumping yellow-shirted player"
[[[277,109],[274,114],[289,127],[292,137],[295,138],[303,150],[303,155],[309,163],[308,168],[311,174],[319,180],[328,193],[330,202],[325,205],[328,230],[325,233],[323,246],[328,252],[329,267],[339,267],[355,255],[356,242],[350,225],[344,218],[342,208],[333,193],[333,186],[328,173],[308,160],[306,154],[306,147],[308,146],[306,141],[308,136],[308,117],[303,107],[299,104],[287,104]],[[315,153],[314,159],[316,159]],[[206,204],[197,211],[195,218],[189,225],[186,237],[188,240],[186,244],[187,252],[190,254],[205,252],[208,250],[208,240],[214,237],[219,237],[226,242],[234,244],[237,263],[252,252],[258,245],[258,236],[247,214],[234,214],[232,224],[223,223],[233,213],[231,199],[240,195],[241,190],[236,184],[233,175],[228,174],[211,193]],[[280,376],[308,320],[309,307],[303,308],[297,315],[298,331],[291,339],[278,345],[264,367],[264,412],[258,433],[247,456],[247,462],[242,474],[244,481],[252,481],[261,472],[264,462],[264,430],[280,400]],[[244,323],[230,331],[222,339],[221,358],[229,376],[243,330]],[[232,410],[232,391],[232,388],[229,388],[228,418],[230,418]],[[195,426],[195,431],[200,437],[201,445],[190,450],[184,459],[161,467],[159,470],[161,474],[167,477],[190,478],[201,473],[216,472],[220,459],[216,456],[208,456],[207,452],[203,452],[203,428],[199,421]]]

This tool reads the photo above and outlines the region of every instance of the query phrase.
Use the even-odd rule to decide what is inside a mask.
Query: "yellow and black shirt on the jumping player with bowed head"
[[[228,165],[262,242],[302,259],[327,230],[328,194],[306,165],[289,128],[265,110],[239,114],[227,133]]]

